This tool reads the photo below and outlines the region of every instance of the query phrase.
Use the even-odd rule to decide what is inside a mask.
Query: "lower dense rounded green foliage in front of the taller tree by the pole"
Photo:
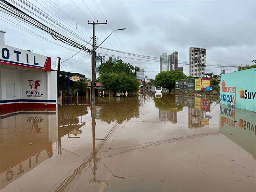
[[[129,76],[125,72],[114,73],[107,72],[100,75],[100,83],[106,89],[112,89],[114,93],[120,92],[137,92],[140,81],[135,76]]]

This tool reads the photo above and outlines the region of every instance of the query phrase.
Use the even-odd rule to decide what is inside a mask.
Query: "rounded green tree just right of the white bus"
[[[156,75],[154,85],[169,89],[169,92],[171,92],[175,88],[175,80],[186,78],[188,77],[181,71],[164,71]]]

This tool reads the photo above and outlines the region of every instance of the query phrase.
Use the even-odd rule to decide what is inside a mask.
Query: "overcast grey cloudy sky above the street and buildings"
[[[113,34],[102,44],[109,49],[158,58],[162,53],[178,51],[179,60],[189,61],[189,47],[203,47],[207,49],[206,72],[214,74],[219,74],[221,68],[226,69],[226,72],[234,71],[234,68],[226,66],[251,64],[251,60],[256,59],[256,1],[96,1],[100,10],[94,1],[31,3],[86,40],[92,37],[92,25],[88,25],[88,20],[108,20],[107,25],[96,26],[95,33],[99,43],[112,29],[126,28],[116,31],[116,35]],[[55,4],[70,18],[60,12]],[[18,24],[18,27],[64,47],[12,24]],[[53,68],[57,57],[61,57],[63,61],[79,51],[6,16],[3,12],[0,12],[0,30],[6,31],[5,44],[52,57]],[[66,35],[72,38],[69,34]],[[86,44],[82,41],[80,43]],[[159,61],[134,60],[131,56],[118,52],[101,49],[97,51],[107,58],[111,54],[117,55],[123,61],[144,68],[144,75],[155,77],[159,73]],[[219,67],[212,67],[211,64]],[[85,52],[79,52],[61,66],[66,71],[80,72],[91,77],[91,57]],[[184,73],[188,75],[188,65],[180,64],[179,67],[183,67]]]

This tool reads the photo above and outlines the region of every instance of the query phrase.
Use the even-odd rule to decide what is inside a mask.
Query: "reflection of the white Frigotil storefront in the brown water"
[[[52,157],[56,111],[20,111],[0,119],[0,189]]]

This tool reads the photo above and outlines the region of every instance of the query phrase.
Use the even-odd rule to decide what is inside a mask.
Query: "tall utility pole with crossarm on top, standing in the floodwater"
[[[92,98],[91,98],[91,105],[95,104],[95,60],[96,60],[96,52],[95,52],[95,25],[102,25],[107,24],[107,20],[105,23],[95,23],[94,21],[90,23],[88,21],[89,25],[92,25]]]

